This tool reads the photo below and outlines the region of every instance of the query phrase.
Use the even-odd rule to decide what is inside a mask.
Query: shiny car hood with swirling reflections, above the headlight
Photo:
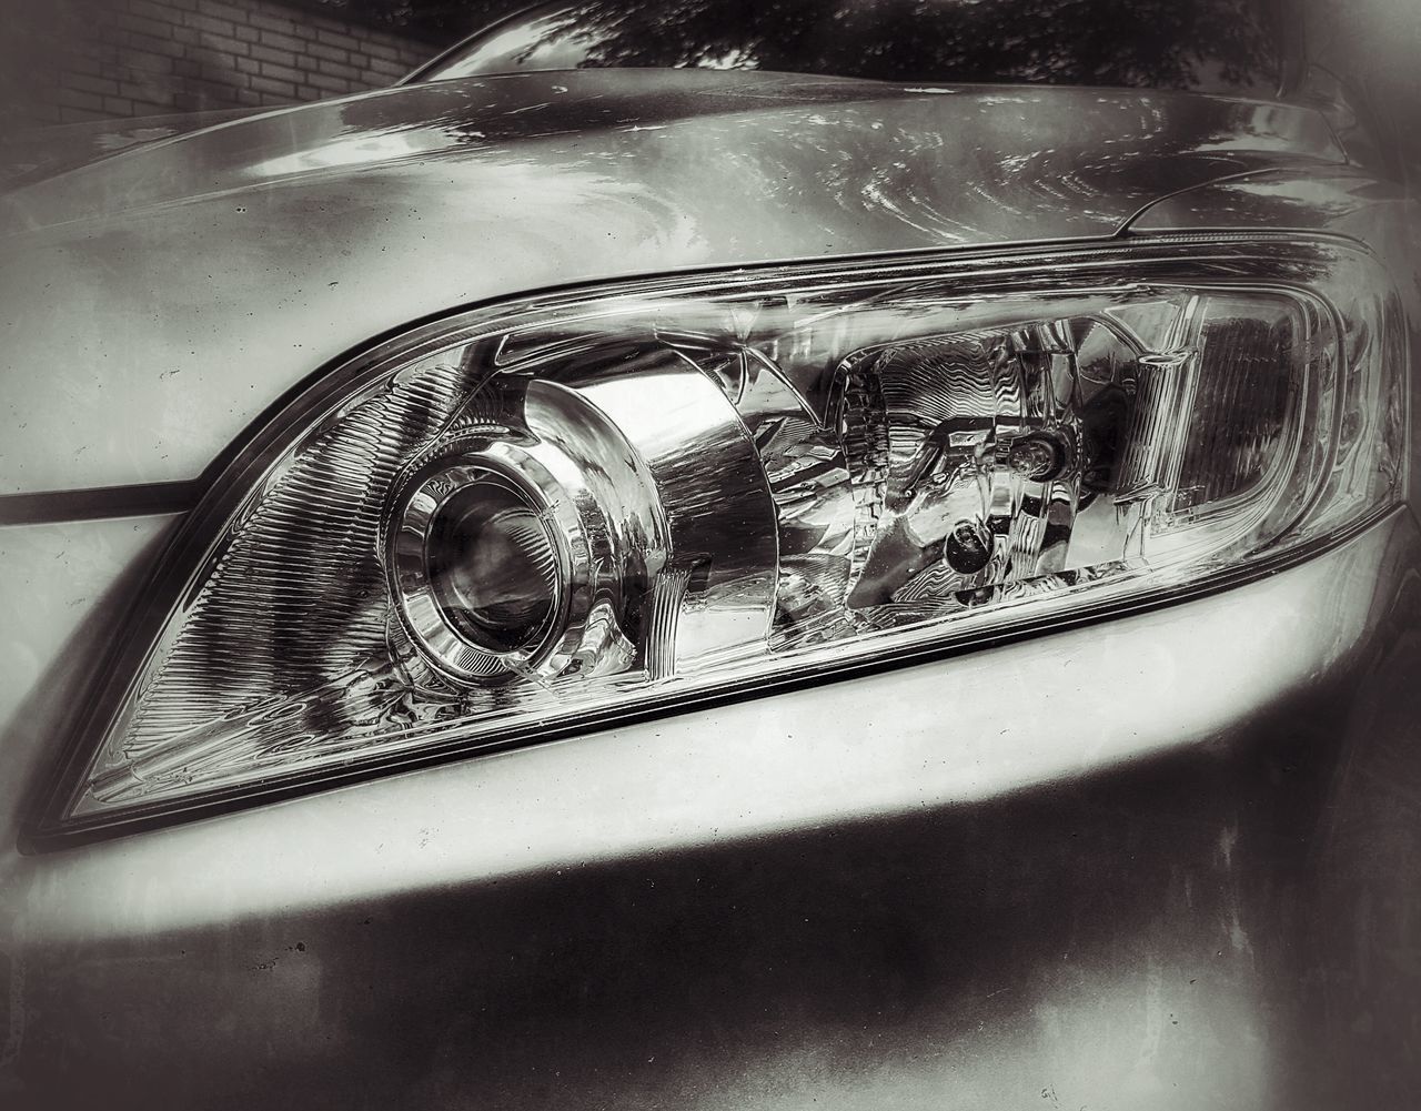
[[[173,134],[0,199],[0,494],[192,480],[323,365],[571,281],[1091,239],[1341,162],[1314,112],[706,71],[409,85]]]

